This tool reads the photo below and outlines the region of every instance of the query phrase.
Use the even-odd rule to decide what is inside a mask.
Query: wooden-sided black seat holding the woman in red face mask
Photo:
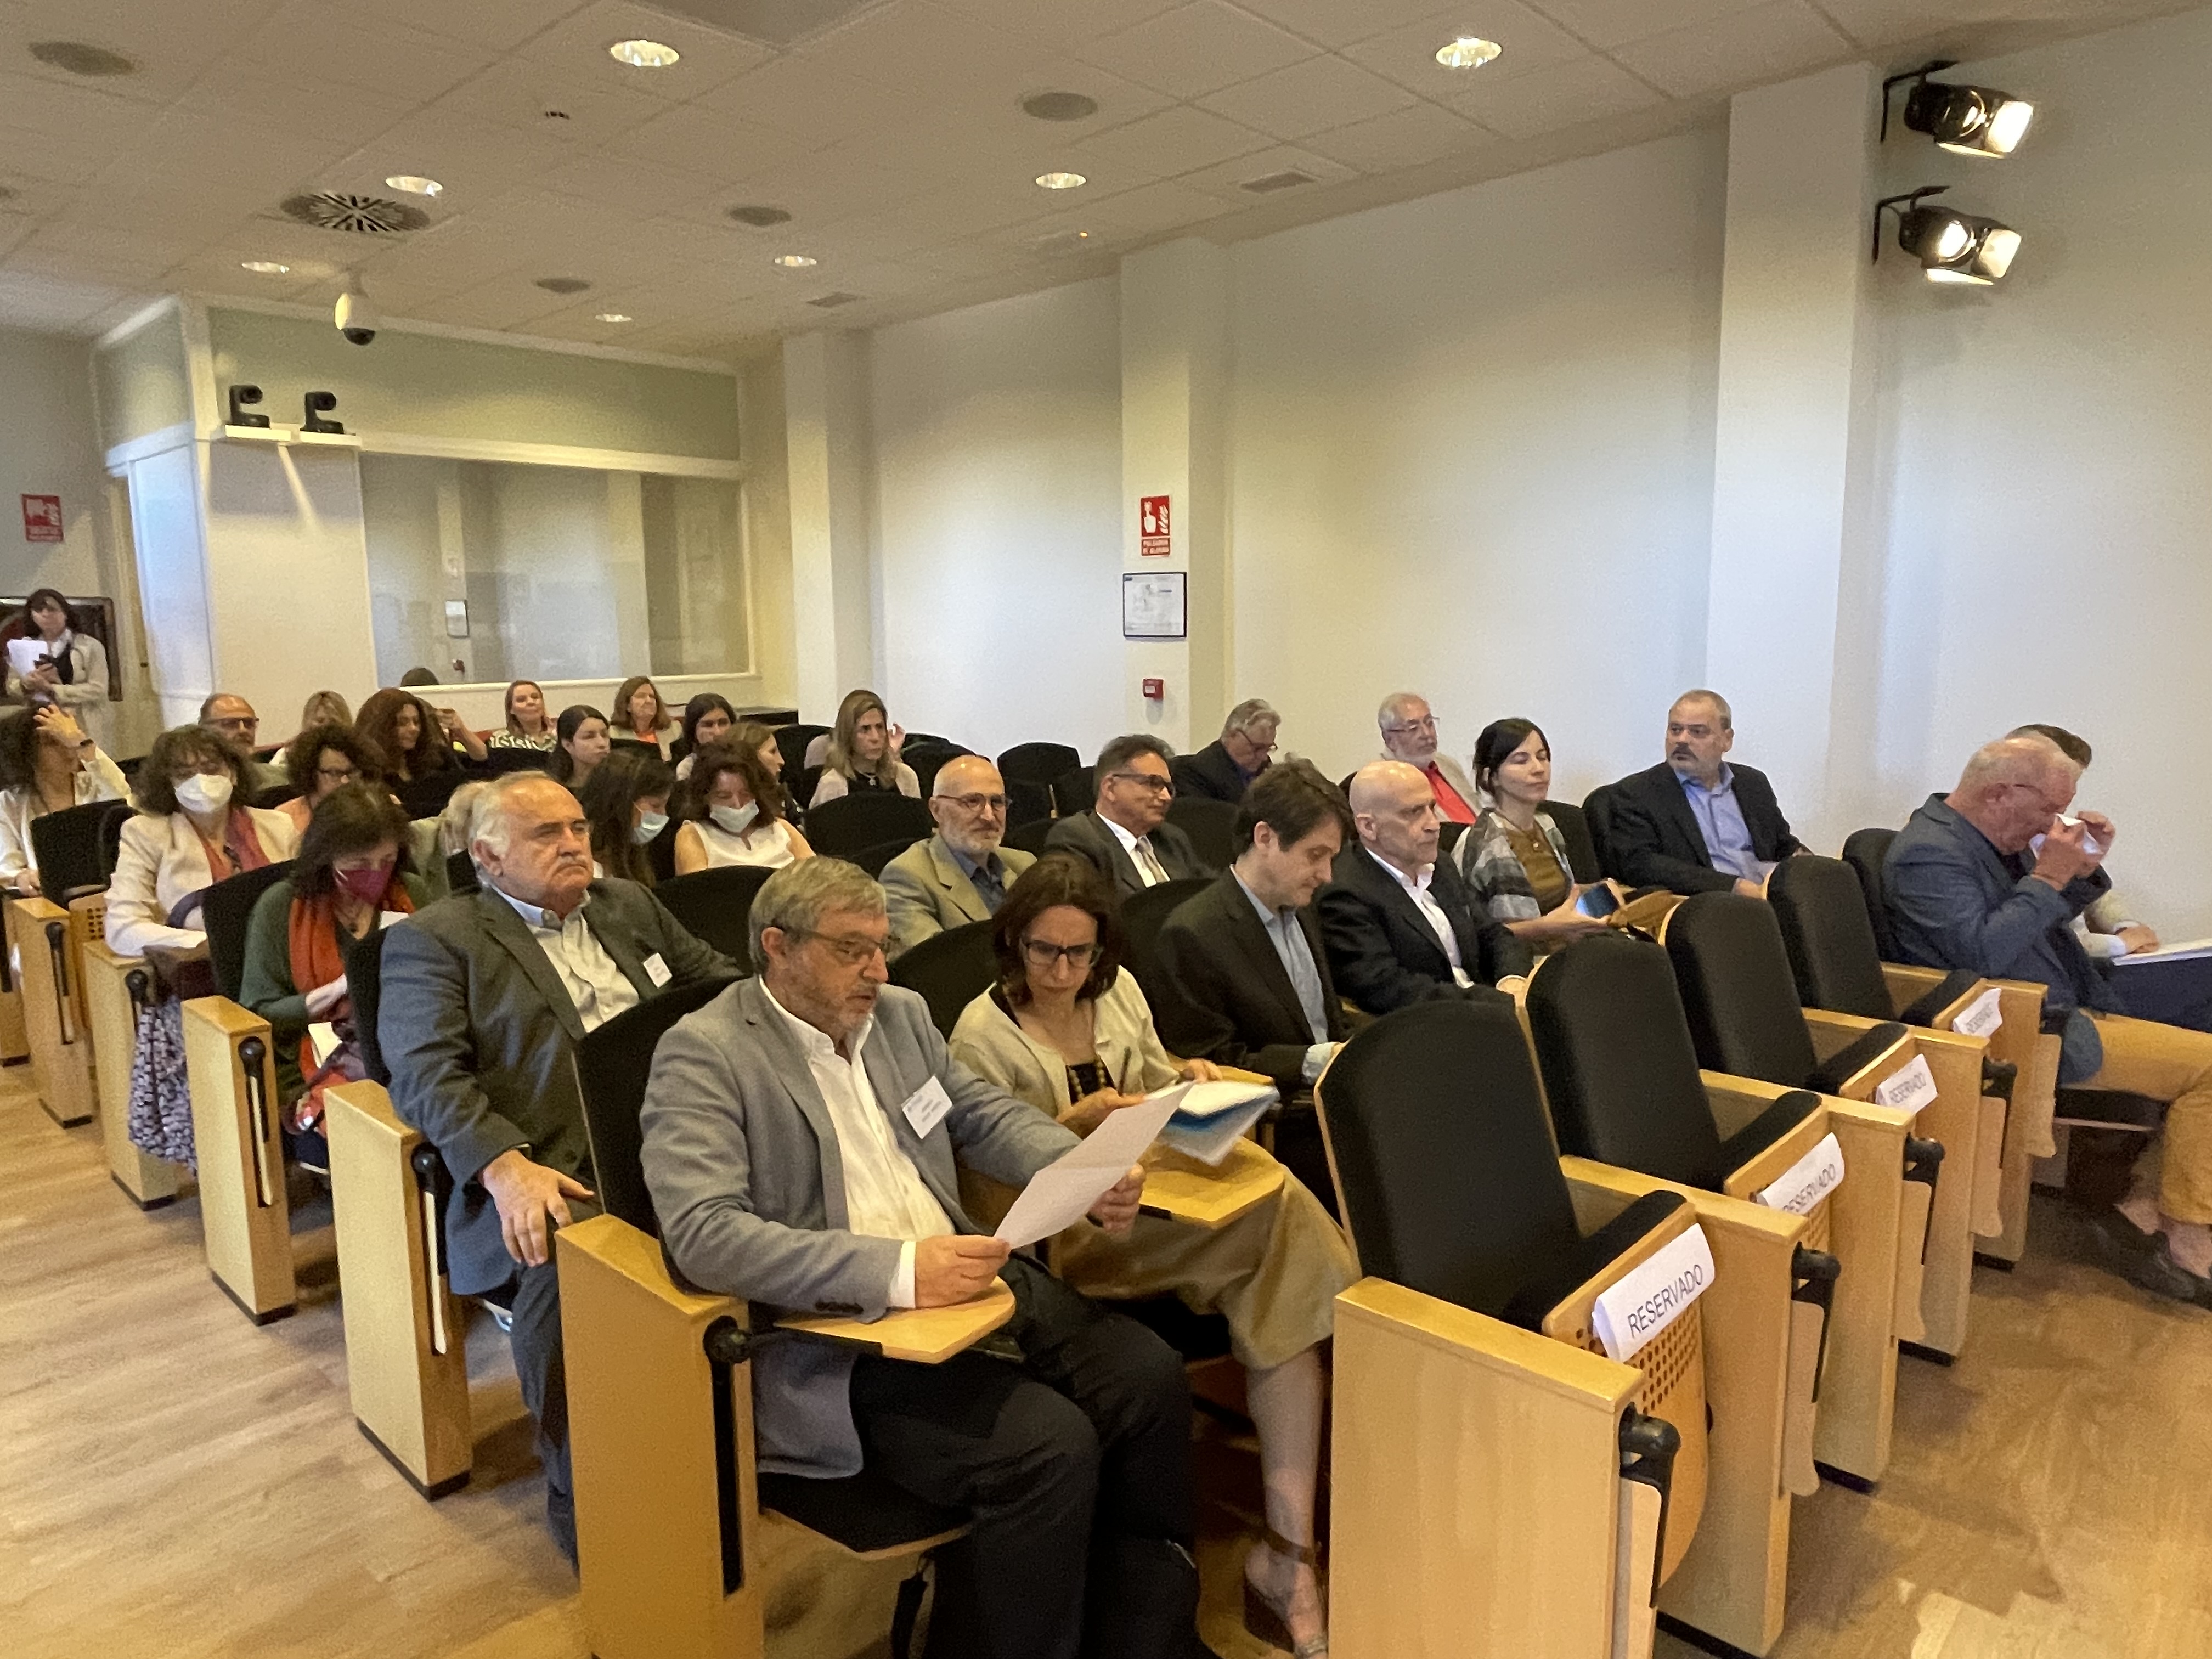
[[[285,1318],[296,1292],[276,1046],[268,1020],[239,1004],[239,984],[254,902],[290,874],[292,863],[283,860],[208,887],[201,916],[217,993],[184,1004],[208,1272],[254,1325]]]

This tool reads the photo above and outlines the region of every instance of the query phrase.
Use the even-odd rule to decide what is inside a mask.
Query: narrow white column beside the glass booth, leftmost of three
[[[867,338],[783,343],[783,431],[792,489],[792,633],[799,714],[827,723],[874,677],[869,577]]]

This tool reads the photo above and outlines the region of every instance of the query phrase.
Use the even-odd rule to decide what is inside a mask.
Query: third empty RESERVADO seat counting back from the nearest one
[[[1924,1060],[1936,1093],[1920,1106],[1913,1133],[1944,1148],[1944,1181],[1929,1212],[1929,1245],[1920,1283],[1922,1336],[1911,1352],[1958,1356],[1966,1340],[1978,1232],[1995,1232],[1995,1214],[1975,1214],[1975,1170],[1984,1126],[2002,1135],[2002,1104],[1982,1097],[1989,1044],[1951,1031],[1916,1031],[1896,1020],[1867,1020],[1798,1002],[1790,953],[1774,909],[1741,894],[1692,894],[1659,925],[1699,1064],[1778,1088],[1814,1088],[1845,1099],[1874,1091]]]

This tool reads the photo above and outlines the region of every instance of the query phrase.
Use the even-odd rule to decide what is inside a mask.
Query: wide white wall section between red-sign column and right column
[[[1703,664],[1725,135],[1237,248],[1232,697],[1338,776],[1420,690],[1562,794],[1659,759]],[[1194,721],[1194,730],[1201,721]]]

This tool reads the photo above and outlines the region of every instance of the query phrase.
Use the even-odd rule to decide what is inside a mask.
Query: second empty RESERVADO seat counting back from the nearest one
[[[1922,1334],[1920,1252],[1942,1148],[1913,1139],[1913,1115],[1900,1108],[1803,1088],[1743,1091],[1699,1073],[1674,971],[1666,951],[1644,940],[1599,933],[1553,951],[1528,978],[1524,1011],[1562,1152],[1756,1201],[1836,1137],[1843,1183],[1798,1208],[1801,1248],[1827,1252],[1840,1283],[1823,1287],[1820,1261],[1790,1267],[1794,1296],[1827,1303],[1827,1329],[1816,1338],[1827,1358],[1818,1418],[1794,1425],[1805,1433],[1792,1433],[1785,1475],[1798,1495],[1814,1489],[1814,1458],[1863,1482],[1880,1480],[1898,1338]],[[1703,1199],[1697,1203],[1703,1210]],[[1792,1347],[1792,1387],[1801,1363]],[[1798,1402],[1792,1396],[1792,1407]]]

